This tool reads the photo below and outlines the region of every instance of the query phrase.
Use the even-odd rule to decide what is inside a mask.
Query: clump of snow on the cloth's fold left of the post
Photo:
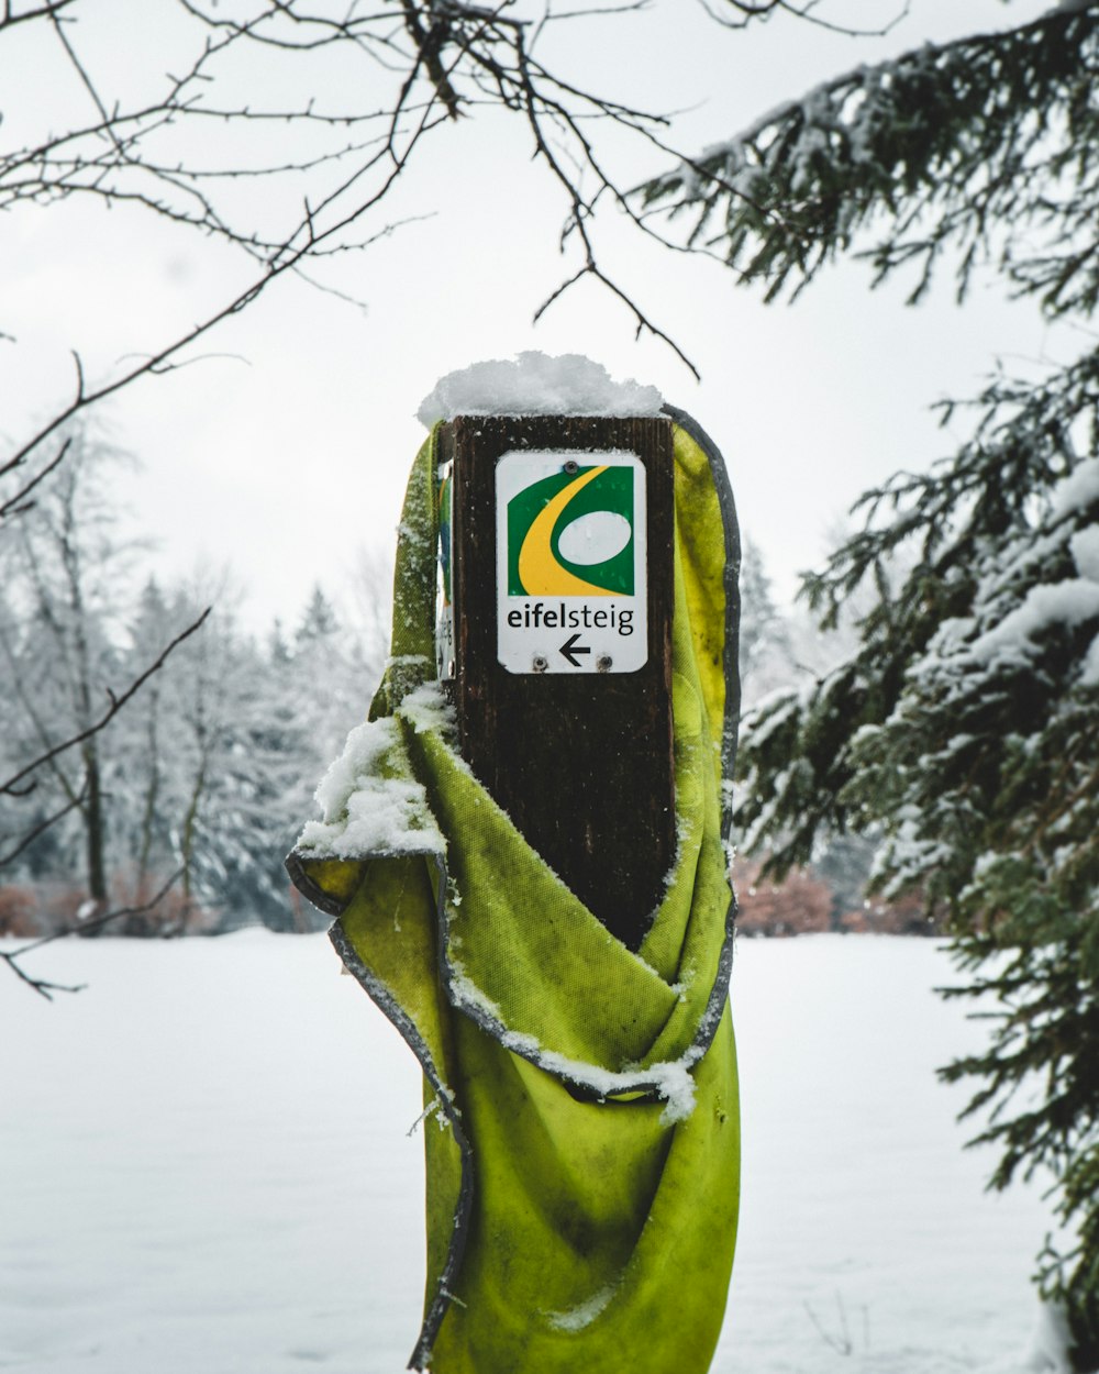
[[[298,848],[313,859],[442,853],[427,794],[393,765],[400,754],[396,720],[357,725],[316,790],[321,819],[308,822]]]

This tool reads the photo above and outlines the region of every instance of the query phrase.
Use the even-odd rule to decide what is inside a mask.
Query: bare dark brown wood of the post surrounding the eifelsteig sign
[[[636,672],[511,673],[497,662],[496,463],[522,448],[625,449],[644,463],[648,661]],[[462,753],[533,848],[636,949],[676,849],[670,422],[460,416],[446,426],[442,455],[455,459]]]

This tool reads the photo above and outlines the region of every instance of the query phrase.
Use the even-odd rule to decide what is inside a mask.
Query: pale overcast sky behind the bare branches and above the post
[[[573,26],[567,62],[576,80],[609,80],[615,96],[687,110],[676,143],[698,150],[860,60],[1047,7],[912,0],[892,34],[856,41],[793,19],[724,33],[694,0],[655,0]],[[92,11],[73,32],[88,36],[104,70],[121,62],[140,73],[154,52],[159,60],[157,45],[170,37],[165,0],[113,0],[117,32],[129,34],[113,56],[107,41],[92,41]],[[890,0],[846,0],[822,12],[876,22],[893,11]],[[69,80],[29,43],[18,56],[0,137],[18,136],[19,100],[48,111]],[[600,229],[607,265],[702,382],[664,345],[635,341],[628,312],[591,283],[533,326],[567,267],[558,256],[565,206],[529,154],[523,131],[499,120],[440,131],[386,216],[423,218],[326,271],[365,309],[283,279],[209,339],[203,353],[214,356],[110,404],[115,437],[144,463],[121,495],[157,540],[159,572],[229,563],[247,587],[251,624],[294,624],[315,581],[346,591],[360,548],[392,548],[423,437],[415,412],[435,379],[533,348],[585,353],[688,409],[723,449],[742,523],[789,594],[867,485],[949,452],[927,409],[934,400],[975,392],[997,357],[1029,368],[1058,344],[992,279],[964,311],[945,279],[927,304],[905,309],[900,286],[870,293],[870,273],[845,265],[794,306],[765,308],[720,267],[654,250],[610,216]],[[653,158],[632,170],[659,166]],[[66,205],[0,217],[0,333],[15,339],[0,342],[0,434],[22,438],[67,397],[71,349],[104,375],[228,295],[239,271],[227,250],[143,213]]]

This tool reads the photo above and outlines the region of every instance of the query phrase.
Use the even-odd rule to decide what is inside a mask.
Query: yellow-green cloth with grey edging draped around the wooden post
[[[739,705],[739,554],[720,456],[669,414],[679,853],[637,954],[457,754],[433,682],[434,433],[409,480],[372,724],[287,860],[423,1069],[413,1369],[702,1374],[721,1327],[739,1198],[721,790]],[[381,838],[374,813],[397,818]]]

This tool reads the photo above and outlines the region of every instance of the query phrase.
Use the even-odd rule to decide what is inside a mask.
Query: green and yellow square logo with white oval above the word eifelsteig
[[[562,469],[507,504],[511,596],[633,595],[633,469]]]

